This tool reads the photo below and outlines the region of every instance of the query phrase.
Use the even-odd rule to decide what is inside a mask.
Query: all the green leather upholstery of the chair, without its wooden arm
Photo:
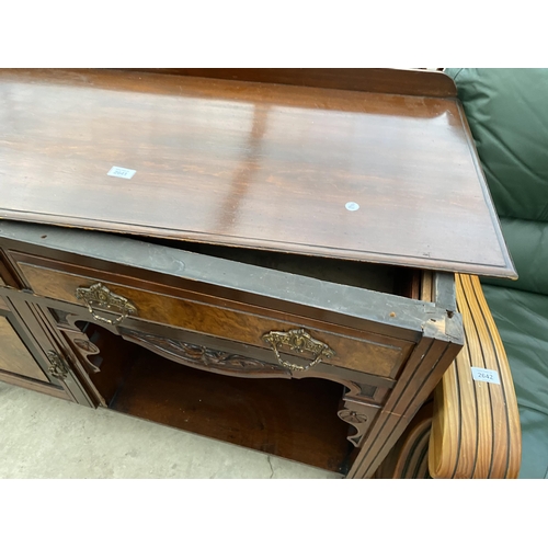
[[[446,69],[520,278],[483,278],[522,426],[520,478],[548,478],[548,69]]]

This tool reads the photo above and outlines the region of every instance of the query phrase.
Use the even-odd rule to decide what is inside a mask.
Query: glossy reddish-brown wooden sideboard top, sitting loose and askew
[[[0,217],[515,276],[458,101],[393,91],[2,70]]]

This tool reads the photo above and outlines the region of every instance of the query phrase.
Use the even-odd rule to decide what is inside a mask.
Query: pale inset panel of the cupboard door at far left
[[[0,316],[0,369],[48,381],[32,354],[21,341],[8,318]]]

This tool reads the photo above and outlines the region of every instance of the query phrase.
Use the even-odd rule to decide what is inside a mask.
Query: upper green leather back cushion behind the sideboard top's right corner
[[[501,217],[548,221],[548,69],[446,69]]]

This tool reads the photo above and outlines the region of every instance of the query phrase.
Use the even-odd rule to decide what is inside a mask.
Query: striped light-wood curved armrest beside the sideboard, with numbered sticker
[[[522,437],[504,346],[477,276],[457,275],[465,346],[436,387],[429,466],[434,478],[517,478]],[[500,385],[470,367],[498,372]]]

